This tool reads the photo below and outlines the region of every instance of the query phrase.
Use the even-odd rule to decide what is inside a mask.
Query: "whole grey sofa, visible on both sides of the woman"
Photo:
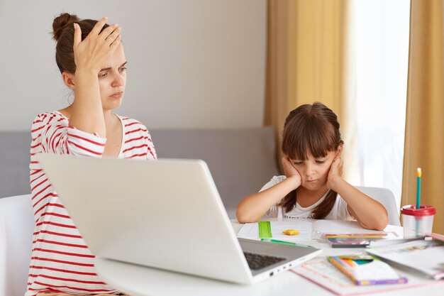
[[[270,127],[151,130],[158,158],[199,158],[211,175],[228,216],[245,195],[277,175]],[[0,131],[0,197],[27,194],[30,133]]]

